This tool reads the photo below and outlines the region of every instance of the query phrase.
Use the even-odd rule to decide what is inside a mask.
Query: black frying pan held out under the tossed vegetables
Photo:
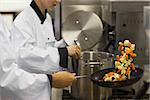
[[[124,87],[124,86],[132,85],[132,84],[136,83],[138,80],[140,80],[140,78],[143,75],[143,70],[140,68],[136,68],[136,72],[135,71],[131,72],[130,80],[127,79],[124,81],[116,81],[116,82],[102,81],[101,79],[103,78],[103,76],[106,73],[111,72],[111,71],[115,71],[115,68],[99,70],[91,75],[91,80],[93,81],[94,84],[97,84],[102,87],[118,88],[118,87]]]

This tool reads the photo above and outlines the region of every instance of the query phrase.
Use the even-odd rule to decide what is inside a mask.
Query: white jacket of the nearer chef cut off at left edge
[[[0,16],[0,100],[50,100],[47,76],[18,67],[8,36],[8,28]]]

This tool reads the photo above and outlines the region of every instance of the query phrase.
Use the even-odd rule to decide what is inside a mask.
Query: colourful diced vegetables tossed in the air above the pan
[[[137,56],[134,53],[135,44],[132,44],[129,40],[119,42],[118,50],[121,55],[116,55],[116,72],[106,73],[103,77],[104,81],[114,82],[130,79],[131,71],[135,71],[135,64],[133,63],[133,59]]]

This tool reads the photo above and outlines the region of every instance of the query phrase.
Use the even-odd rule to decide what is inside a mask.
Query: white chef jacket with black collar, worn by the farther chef
[[[33,0],[11,28],[12,43],[18,52],[17,63],[29,72],[49,74],[58,71],[60,66],[66,67],[61,63],[68,62],[68,52],[61,48],[66,44],[64,40],[55,40],[51,17],[48,13],[45,16]]]

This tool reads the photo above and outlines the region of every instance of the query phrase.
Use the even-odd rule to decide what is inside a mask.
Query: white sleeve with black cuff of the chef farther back
[[[47,48],[38,47],[36,39],[33,38],[34,36],[29,35],[32,26],[24,27],[27,24],[23,24],[25,25],[20,26],[14,23],[11,28],[12,43],[18,54],[16,62],[22,69],[28,72],[49,74],[59,71],[60,66],[67,66],[68,52],[65,47],[63,49],[51,46]],[[64,59],[65,62],[63,62]]]

